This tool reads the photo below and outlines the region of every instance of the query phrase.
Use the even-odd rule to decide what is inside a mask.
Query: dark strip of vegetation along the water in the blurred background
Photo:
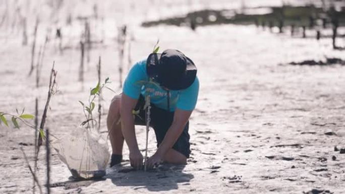
[[[255,10],[259,9],[270,11],[268,13],[258,14],[259,12]],[[248,14],[246,14],[246,10],[249,10]],[[198,26],[207,25],[255,24],[257,27],[261,26],[263,29],[269,28],[271,32],[273,32],[273,27],[277,27],[279,33],[283,33],[286,27],[289,27],[292,36],[296,35],[296,32],[302,31],[301,36],[303,38],[307,37],[306,30],[311,29],[316,31],[316,39],[326,38],[327,36],[322,36],[321,30],[331,28],[333,31],[331,37],[333,48],[343,49],[336,46],[336,37],[345,37],[345,34],[338,35],[338,28],[345,26],[345,5],[341,7],[341,10],[336,10],[332,6],[326,9],[325,7],[316,7],[314,5],[299,7],[258,7],[244,9],[242,13],[238,13],[238,10],[201,10],[188,13],[186,16],[143,22],[142,26],[151,27],[159,24],[187,25],[192,30],[195,30]]]

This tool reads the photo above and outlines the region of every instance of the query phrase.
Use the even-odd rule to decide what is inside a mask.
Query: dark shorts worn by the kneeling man
[[[140,95],[138,99],[138,103],[135,106],[135,110],[139,111],[139,114],[135,116],[135,124],[136,125],[146,125],[146,114],[144,110],[145,106],[145,99],[142,95]],[[153,128],[154,133],[156,135],[157,140],[157,148],[160,143],[163,141],[167,130],[169,129],[172,120],[174,119],[174,112],[170,112],[161,108],[156,107],[154,104],[151,104],[150,109],[150,126]],[[189,158],[189,154],[191,153],[190,150],[190,143],[189,143],[189,121],[187,122],[181,136],[176,141],[172,149],[180,152],[181,154],[185,155]]]

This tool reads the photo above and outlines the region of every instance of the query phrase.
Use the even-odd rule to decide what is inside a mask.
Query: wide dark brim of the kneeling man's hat
[[[159,67],[159,59],[161,53],[151,53],[147,57],[146,61],[146,73],[153,81],[159,83],[161,86],[168,88],[169,90],[184,90],[191,86],[195,81],[197,68],[194,62],[186,56],[186,74],[181,77],[179,80],[163,82],[164,78],[159,77],[158,67]],[[164,83],[164,84],[163,84]]]

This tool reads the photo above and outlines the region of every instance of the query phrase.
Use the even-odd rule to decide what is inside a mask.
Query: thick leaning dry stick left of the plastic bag
[[[57,72],[54,70],[54,65],[55,65],[55,61],[53,61],[53,66],[52,66],[51,72],[50,72],[48,97],[47,97],[47,102],[45,103],[45,107],[44,107],[44,110],[43,110],[43,114],[42,114],[42,119],[41,119],[41,124],[39,126],[39,130],[43,130],[43,128],[44,128],[45,118],[47,117],[47,110],[48,110],[48,107],[49,107],[49,101],[50,101],[51,95],[55,94],[54,89],[56,88],[56,81],[55,81],[55,79],[56,79]],[[39,146],[42,145],[42,138],[43,137],[41,136],[41,133],[39,133],[39,136],[38,136],[38,149],[37,149],[36,157],[38,156]]]

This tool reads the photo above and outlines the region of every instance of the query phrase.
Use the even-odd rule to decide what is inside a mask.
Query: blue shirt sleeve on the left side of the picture
[[[146,61],[142,60],[135,63],[127,75],[123,93],[133,99],[138,99],[146,78]]]

